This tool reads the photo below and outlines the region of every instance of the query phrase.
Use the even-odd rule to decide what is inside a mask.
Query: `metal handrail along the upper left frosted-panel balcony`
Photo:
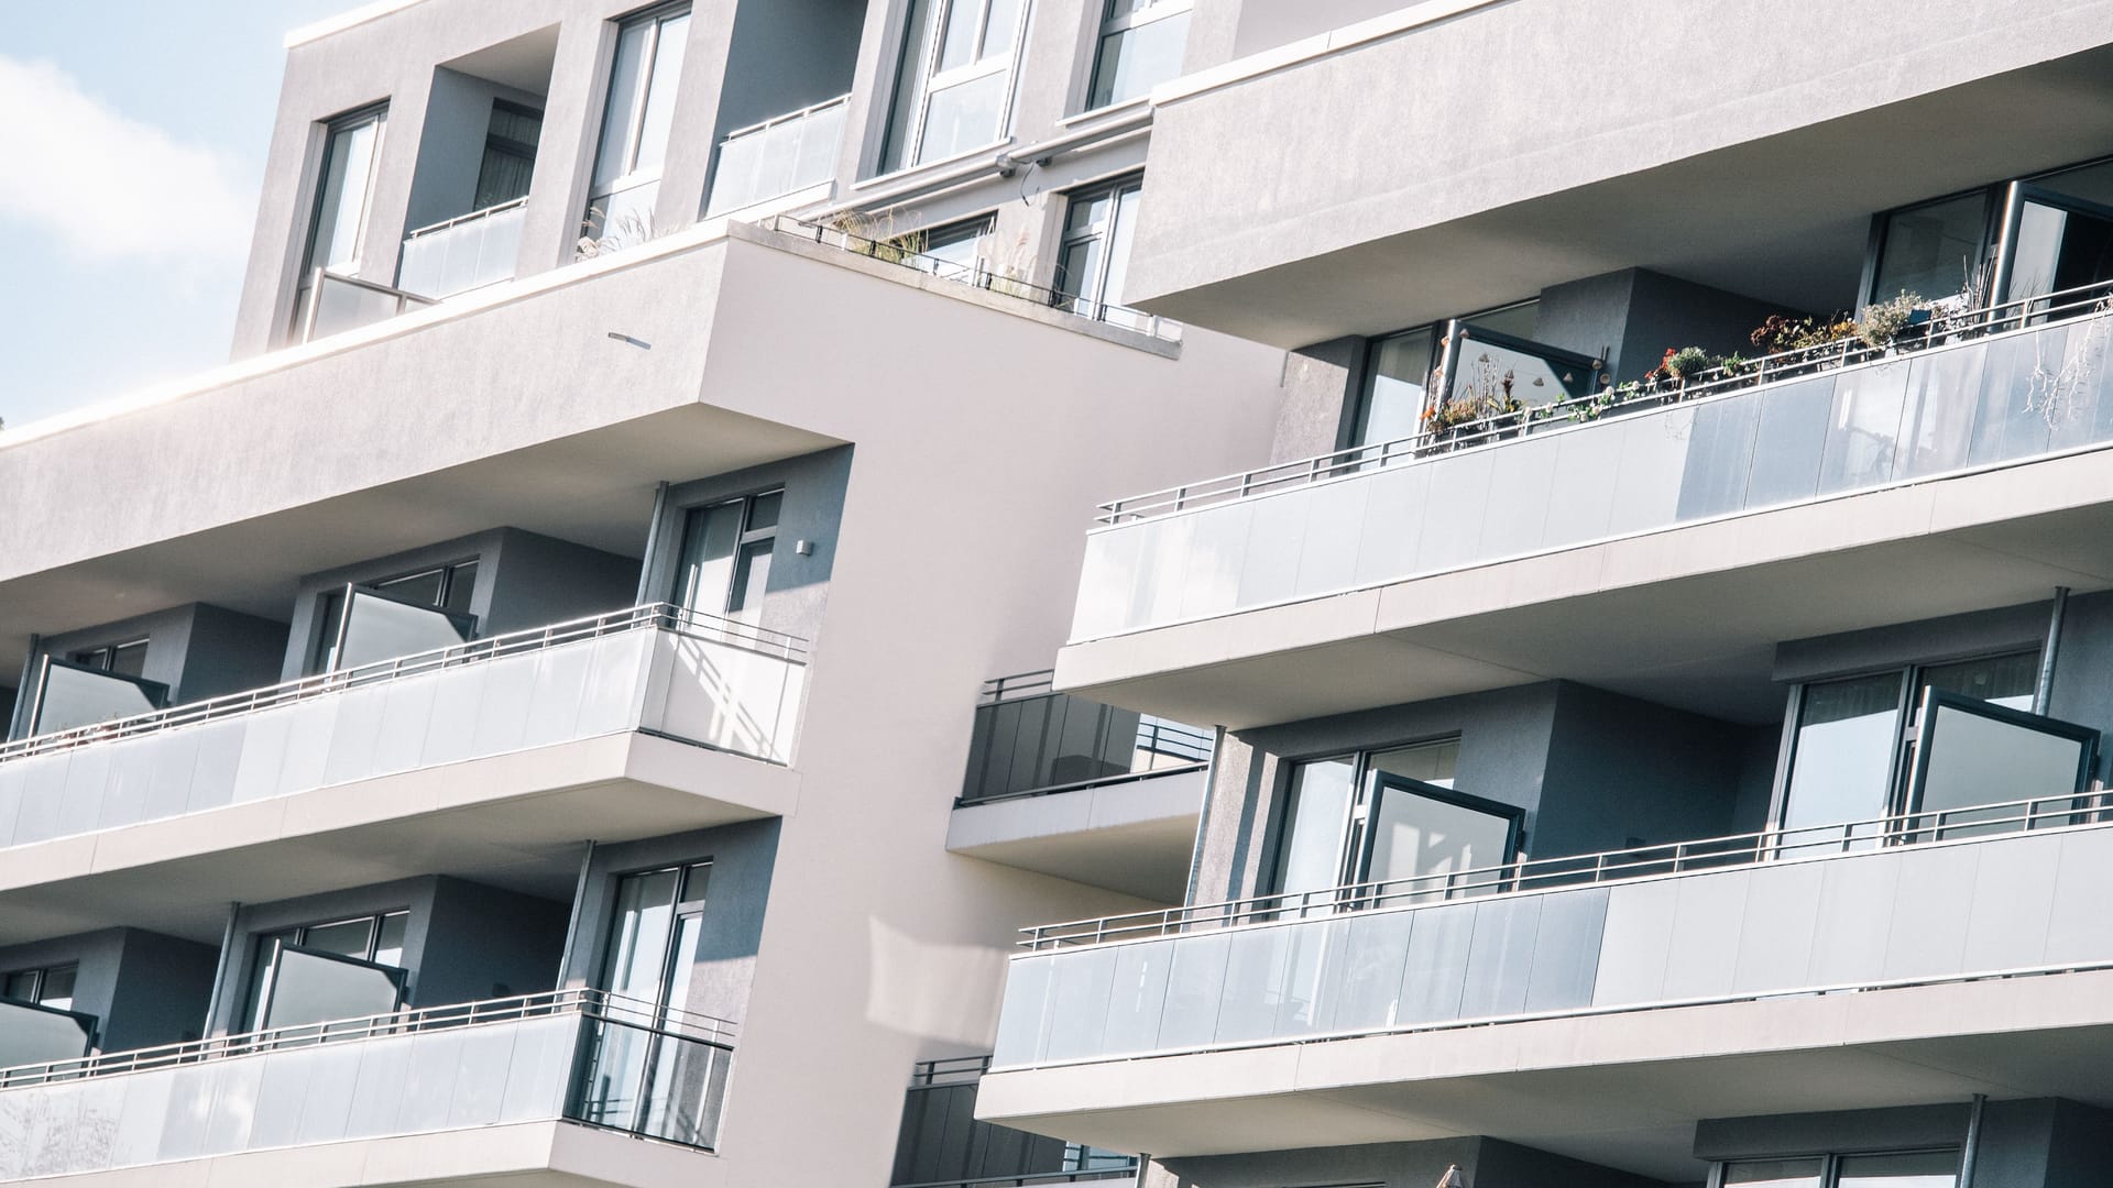
[[[676,634],[693,638],[710,638],[716,643],[725,643],[729,647],[740,647],[744,651],[754,651],[761,655],[769,655],[773,660],[784,660],[786,664],[805,664],[807,655],[807,641],[792,634],[773,632],[767,628],[740,624],[733,619],[723,619],[718,615],[706,615],[702,611],[691,611],[687,607],[676,607],[672,602],[647,602],[642,607],[630,607],[604,615],[566,619],[543,628],[526,628],[518,632],[475,638],[469,643],[435,647],[429,651],[414,651],[410,655],[399,655],[395,660],[376,660],[372,664],[361,664],[355,668],[338,668],[334,672],[319,672],[315,676],[281,681],[279,685],[266,685],[262,689],[249,689],[243,693],[224,693],[220,698],[188,702],[165,710],[152,710],[133,717],[110,719],[95,725],[78,725],[53,734],[19,738],[15,742],[0,744],[0,763],[6,763],[8,759],[21,759],[27,755],[68,750],[91,742],[135,738],[142,734],[156,734],[163,729],[192,725],[199,721],[216,721],[216,719],[247,714],[254,710],[268,710],[294,702],[306,702],[311,698],[321,698],[328,693],[338,693],[351,687],[372,685],[380,681],[395,681],[397,676],[410,676],[416,672],[429,672],[433,668],[454,668],[463,664],[497,660],[501,655],[543,651],[549,647],[558,647],[562,643],[577,643],[583,638],[598,638],[606,634],[621,634],[649,628],[672,630]]]

